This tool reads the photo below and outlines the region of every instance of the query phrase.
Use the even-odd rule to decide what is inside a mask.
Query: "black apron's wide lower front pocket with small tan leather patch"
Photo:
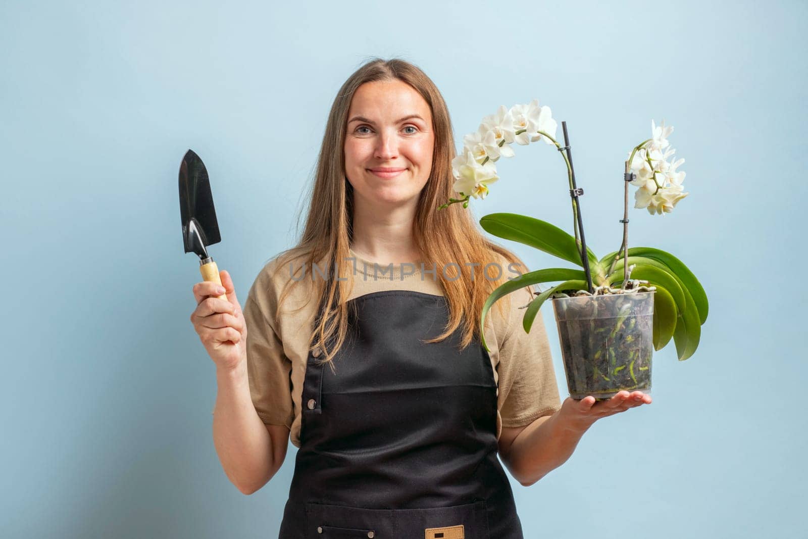
[[[306,503],[306,539],[489,539],[485,500],[449,507],[367,509]]]

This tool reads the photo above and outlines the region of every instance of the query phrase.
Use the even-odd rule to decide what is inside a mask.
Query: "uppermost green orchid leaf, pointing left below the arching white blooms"
[[[583,266],[575,238],[546,221],[541,221],[518,213],[489,213],[480,219],[482,229],[498,238],[524,243],[545,251],[562,260]],[[598,259],[587,247],[590,266]]]

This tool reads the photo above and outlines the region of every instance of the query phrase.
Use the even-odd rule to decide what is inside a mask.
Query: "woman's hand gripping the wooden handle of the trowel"
[[[247,328],[230,274],[220,271],[219,278],[227,301],[218,298],[219,284],[207,280],[194,284],[191,323],[217,368],[233,369],[246,361]]]

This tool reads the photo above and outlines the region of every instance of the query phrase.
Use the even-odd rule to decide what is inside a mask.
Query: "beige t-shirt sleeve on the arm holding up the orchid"
[[[527,305],[532,295],[528,288],[520,288],[510,294],[510,299],[507,330],[499,346],[499,413],[503,427],[524,427],[558,411],[561,398],[541,312],[527,333],[520,307]]]

